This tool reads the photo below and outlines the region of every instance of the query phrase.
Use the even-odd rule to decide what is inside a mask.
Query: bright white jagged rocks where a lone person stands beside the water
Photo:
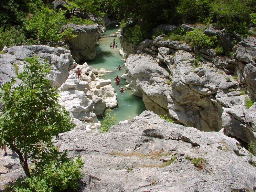
[[[77,69],[69,71],[68,79],[59,88],[59,103],[70,112],[72,118],[82,121],[84,126],[78,125],[76,129],[81,127],[82,130],[91,131],[100,128],[97,116],[101,116],[106,108],[117,106],[116,92],[111,80],[97,78],[94,74],[96,69],[87,63],[79,68],[81,80],[76,77]]]

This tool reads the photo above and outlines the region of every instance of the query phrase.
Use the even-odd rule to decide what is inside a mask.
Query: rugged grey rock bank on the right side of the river
[[[193,29],[181,27],[184,31]],[[143,98],[147,110],[203,131],[224,128],[226,134],[255,143],[255,105],[247,109],[245,100],[255,100],[256,95],[256,40],[238,34],[233,37],[213,27],[204,33],[215,35],[224,49],[231,47],[233,59],[219,56],[212,48],[191,47],[185,42],[163,40],[164,35],[160,35],[135,48],[136,54],[126,60],[129,72],[122,77],[133,94]],[[125,41],[122,32],[119,37]]]

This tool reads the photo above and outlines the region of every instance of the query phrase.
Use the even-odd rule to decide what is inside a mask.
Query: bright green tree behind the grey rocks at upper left
[[[64,11],[56,12],[53,9],[44,8],[32,16],[25,25],[28,31],[37,35],[38,42],[45,44],[59,40],[59,31],[65,20]]]

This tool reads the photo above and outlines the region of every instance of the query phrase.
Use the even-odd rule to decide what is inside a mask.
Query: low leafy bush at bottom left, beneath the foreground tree
[[[49,152],[49,151],[48,151]],[[49,154],[48,154],[49,155]],[[16,180],[14,190],[16,192],[34,192],[34,191],[64,191],[69,189],[77,189],[78,180],[81,178],[81,168],[83,166],[82,158],[67,158],[66,151],[55,154],[50,152],[47,161],[36,164],[36,168],[32,171],[31,177],[26,177],[24,181]],[[40,165],[41,164],[41,165]],[[39,166],[38,166],[39,165]]]

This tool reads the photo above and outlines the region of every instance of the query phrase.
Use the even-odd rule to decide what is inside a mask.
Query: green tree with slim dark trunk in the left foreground
[[[0,115],[0,141],[12,148],[19,157],[27,177],[31,176],[28,158],[40,159],[42,151],[51,146],[52,136],[69,131],[69,113],[57,103],[58,91],[46,78],[50,68],[36,58],[27,58],[24,72],[16,80],[2,85],[0,102],[4,105]]]

